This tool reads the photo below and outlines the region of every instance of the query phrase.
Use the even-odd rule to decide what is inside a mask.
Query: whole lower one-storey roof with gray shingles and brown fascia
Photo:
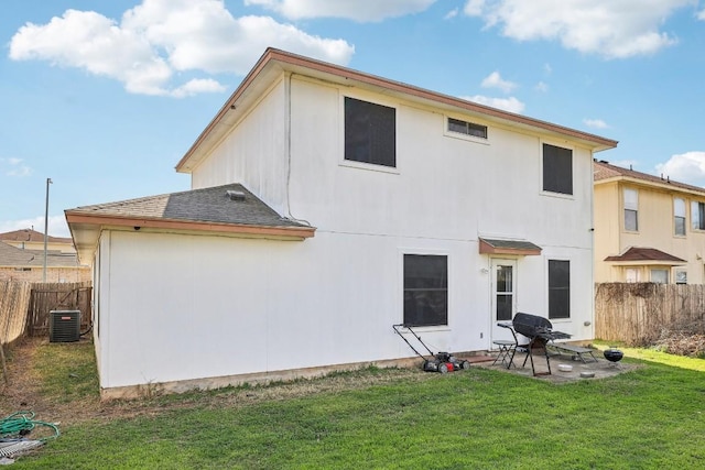
[[[79,255],[93,251],[104,228],[282,239],[305,239],[315,232],[280,216],[240,184],[77,207],[65,215]]]

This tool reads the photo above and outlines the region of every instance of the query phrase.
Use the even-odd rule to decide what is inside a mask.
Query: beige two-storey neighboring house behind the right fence
[[[705,188],[594,166],[595,282],[705,283]]]

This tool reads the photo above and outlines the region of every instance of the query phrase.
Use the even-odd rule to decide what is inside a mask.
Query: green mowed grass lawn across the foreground
[[[37,362],[55,347],[42,346],[48,353]],[[705,468],[705,360],[622,350],[644,367],[564,385],[481,368],[369,369],[346,379],[370,385],[347,390],[315,392],[332,378],[306,381],[313,392],[293,396],[274,384],[110,405],[131,413],[62,426],[13,468]],[[47,393],[95,400],[72,390],[94,380],[68,378]]]

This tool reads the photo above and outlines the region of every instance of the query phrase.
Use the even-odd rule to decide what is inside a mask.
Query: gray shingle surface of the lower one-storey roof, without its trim
[[[241,194],[231,198],[228,192]],[[97,204],[68,210],[106,217],[183,220],[257,227],[308,227],[281,217],[240,184]]]

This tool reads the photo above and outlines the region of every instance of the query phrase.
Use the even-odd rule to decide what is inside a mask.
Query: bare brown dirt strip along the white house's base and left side
[[[82,341],[89,342],[89,340]],[[79,347],[93,348],[93,345],[80,345]],[[46,376],[43,376],[46,374],[41,372],[39,365],[42,362],[47,362],[46,354],[64,353],[66,350],[70,351],[69,345],[48,345],[47,340],[42,338],[28,338],[12,350],[8,361],[9,384],[0,381],[0,417],[19,411],[32,411],[37,419],[73,425],[95,419],[109,420],[150,416],[178,408],[246,406],[263,401],[271,402],[325,392],[360,390],[375,384],[393,383],[400,379],[425,381],[432,375],[416,369],[360,370],[265,386],[226,387],[188,392],[181,395],[155,395],[135,400],[101,402],[97,385],[89,393],[73,393],[70,387],[82,378],[70,371],[62,371],[59,378],[66,383],[68,393],[62,394],[61,387],[58,391],[51,390],[47,393]],[[61,358],[55,360],[58,362]],[[93,368],[95,371],[95,362],[93,362]]]

